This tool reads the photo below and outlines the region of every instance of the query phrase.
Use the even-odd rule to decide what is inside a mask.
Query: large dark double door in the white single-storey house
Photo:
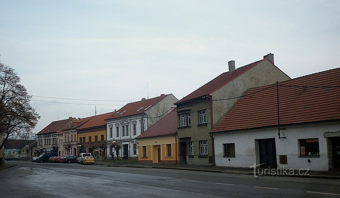
[[[275,139],[260,139],[260,168],[277,168]]]

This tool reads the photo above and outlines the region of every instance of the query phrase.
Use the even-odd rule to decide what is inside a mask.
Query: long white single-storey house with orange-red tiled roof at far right
[[[211,131],[216,165],[340,168],[340,68],[245,95]]]

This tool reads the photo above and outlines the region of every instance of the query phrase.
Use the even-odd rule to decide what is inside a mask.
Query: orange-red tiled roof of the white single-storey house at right
[[[280,125],[340,120],[340,68],[281,82],[278,90]],[[276,84],[252,88],[246,95],[212,132],[278,125]]]

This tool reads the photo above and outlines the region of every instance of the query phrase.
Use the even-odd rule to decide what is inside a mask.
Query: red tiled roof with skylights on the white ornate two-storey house
[[[115,111],[112,113],[111,116],[109,116],[106,120],[114,119],[114,118],[120,118],[128,115],[136,115],[140,113],[145,113],[150,108],[152,108],[154,105],[162,101],[164,98],[166,98],[168,95],[158,96],[154,98],[150,98],[148,100],[142,100],[137,101],[134,103],[126,104],[124,107],[120,108],[118,111]]]

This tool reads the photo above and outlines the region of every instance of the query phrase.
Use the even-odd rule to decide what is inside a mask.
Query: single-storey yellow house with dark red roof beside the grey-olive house
[[[139,163],[177,164],[177,113],[168,113],[137,138]]]

